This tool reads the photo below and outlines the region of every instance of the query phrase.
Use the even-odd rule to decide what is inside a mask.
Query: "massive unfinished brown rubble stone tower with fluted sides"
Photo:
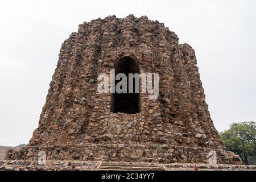
[[[39,127],[9,159],[235,163],[205,103],[196,56],[147,16],[82,23],[60,49]],[[159,73],[159,97],[97,92],[98,75]],[[213,159],[211,159],[213,160]]]

